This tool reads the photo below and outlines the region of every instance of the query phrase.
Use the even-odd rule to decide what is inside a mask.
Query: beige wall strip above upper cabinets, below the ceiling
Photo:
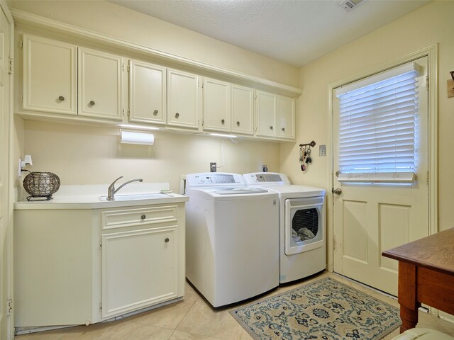
[[[13,0],[8,5],[178,57],[299,87],[297,67],[106,1]]]

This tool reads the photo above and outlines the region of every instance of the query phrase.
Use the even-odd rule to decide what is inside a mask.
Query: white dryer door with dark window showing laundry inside
[[[285,254],[299,254],[325,243],[323,196],[285,200]]]

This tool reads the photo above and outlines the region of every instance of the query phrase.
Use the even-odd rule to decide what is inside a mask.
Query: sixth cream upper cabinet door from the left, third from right
[[[254,90],[232,85],[231,94],[232,132],[253,135]]]

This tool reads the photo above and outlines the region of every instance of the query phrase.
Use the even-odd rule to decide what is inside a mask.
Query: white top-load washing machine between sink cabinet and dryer
[[[186,176],[186,277],[213,307],[279,285],[279,203],[240,174]]]

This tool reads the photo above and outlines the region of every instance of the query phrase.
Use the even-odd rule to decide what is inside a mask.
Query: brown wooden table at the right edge
[[[382,255],[399,261],[401,333],[416,326],[421,303],[454,314],[454,228]]]

